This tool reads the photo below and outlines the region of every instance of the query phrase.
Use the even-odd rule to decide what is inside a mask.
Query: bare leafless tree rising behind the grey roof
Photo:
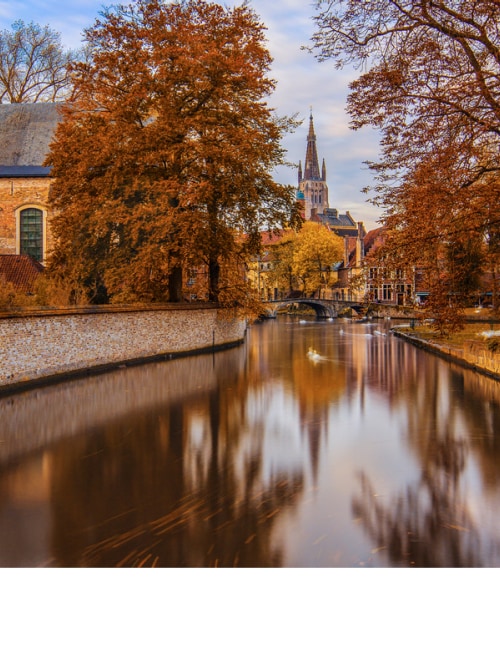
[[[68,66],[76,57],[49,26],[16,21],[0,31],[0,103],[66,99]]]

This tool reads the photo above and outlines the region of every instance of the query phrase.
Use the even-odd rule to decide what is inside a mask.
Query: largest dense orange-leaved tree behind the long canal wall
[[[104,10],[85,39],[47,160],[51,272],[93,301],[179,301],[183,269],[203,265],[209,298],[234,304],[235,262],[295,215],[271,177],[295,121],[267,103],[264,26],[246,4],[139,0]]]

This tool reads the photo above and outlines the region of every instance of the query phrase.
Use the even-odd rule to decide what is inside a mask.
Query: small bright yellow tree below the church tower
[[[342,239],[321,223],[304,223],[294,241],[292,271],[306,293],[332,285],[332,266],[342,259]]]

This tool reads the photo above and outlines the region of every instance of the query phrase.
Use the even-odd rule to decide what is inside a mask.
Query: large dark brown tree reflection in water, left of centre
[[[264,480],[261,448],[241,452],[245,420],[221,417],[241,417],[242,401],[217,386],[108,424],[54,458],[53,565],[282,565],[272,529],[302,474]]]

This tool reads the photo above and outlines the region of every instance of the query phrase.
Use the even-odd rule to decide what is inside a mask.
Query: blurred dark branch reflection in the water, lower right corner
[[[373,553],[393,566],[480,567],[500,554],[492,543],[488,554],[479,527],[460,491],[465,444],[443,439],[432,450],[418,483],[388,501],[379,497],[368,476],[360,474],[361,493],[352,511],[374,543]]]

